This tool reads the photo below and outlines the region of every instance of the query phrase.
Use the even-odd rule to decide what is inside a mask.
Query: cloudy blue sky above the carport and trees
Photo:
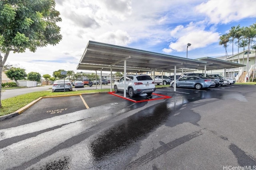
[[[221,57],[220,36],[256,23],[255,7],[256,0],[56,0],[62,40],[35,53],[10,53],[5,64],[41,75],[80,72],[88,41],[185,58],[191,43],[190,59]],[[227,51],[232,54],[231,45]]]

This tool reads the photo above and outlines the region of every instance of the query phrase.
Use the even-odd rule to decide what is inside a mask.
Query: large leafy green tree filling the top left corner
[[[60,13],[54,0],[0,0],[0,91],[2,68],[10,51],[35,52],[38,47],[56,45],[61,39]],[[0,96],[0,107],[2,107]]]

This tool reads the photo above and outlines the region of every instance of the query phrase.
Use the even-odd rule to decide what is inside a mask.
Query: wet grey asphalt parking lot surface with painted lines
[[[256,168],[256,86],[116,95],[45,98],[0,121],[1,169]]]

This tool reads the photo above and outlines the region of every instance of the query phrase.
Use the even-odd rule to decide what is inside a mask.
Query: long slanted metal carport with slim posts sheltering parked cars
[[[206,57],[206,59],[209,58],[210,57]],[[216,60],[218,61],[218,59]],[[89,41],[77,69],[94,70],[96,74],[97,71],[110,71],[112,80],[112,71],[124,72],[124,77],[126,77],[126,72],[153,72],[155,75],[155,71],[162,71],[162,73],[174,72],[174,76],[176,76],[177,69],[183,72],[183,69],[187,68],[191,69],[190,71],[193,72],[195,70],[203,70],[202,68],[204,68],[204,70],[220,69],[220,67],[222,69],[230,68],[228,67],[229,64],[230,66],[236,64],[228,61],[223,62],[225,64],[214,63],[213,60],[210,62],[204,61],[204,58],[197,60],[186,59],[183,57]],[[236,65],[236,67],[240,65]],[[174,79],[174,81],[176,80]],[[126,79],[124,79],[124,84],[125,83]],[[176,91],[176,86],[174,87],[174,91]],[[112,81],[110,82],[110,92],[112,92]],[[126,97],[125,91],[124,97]]]

